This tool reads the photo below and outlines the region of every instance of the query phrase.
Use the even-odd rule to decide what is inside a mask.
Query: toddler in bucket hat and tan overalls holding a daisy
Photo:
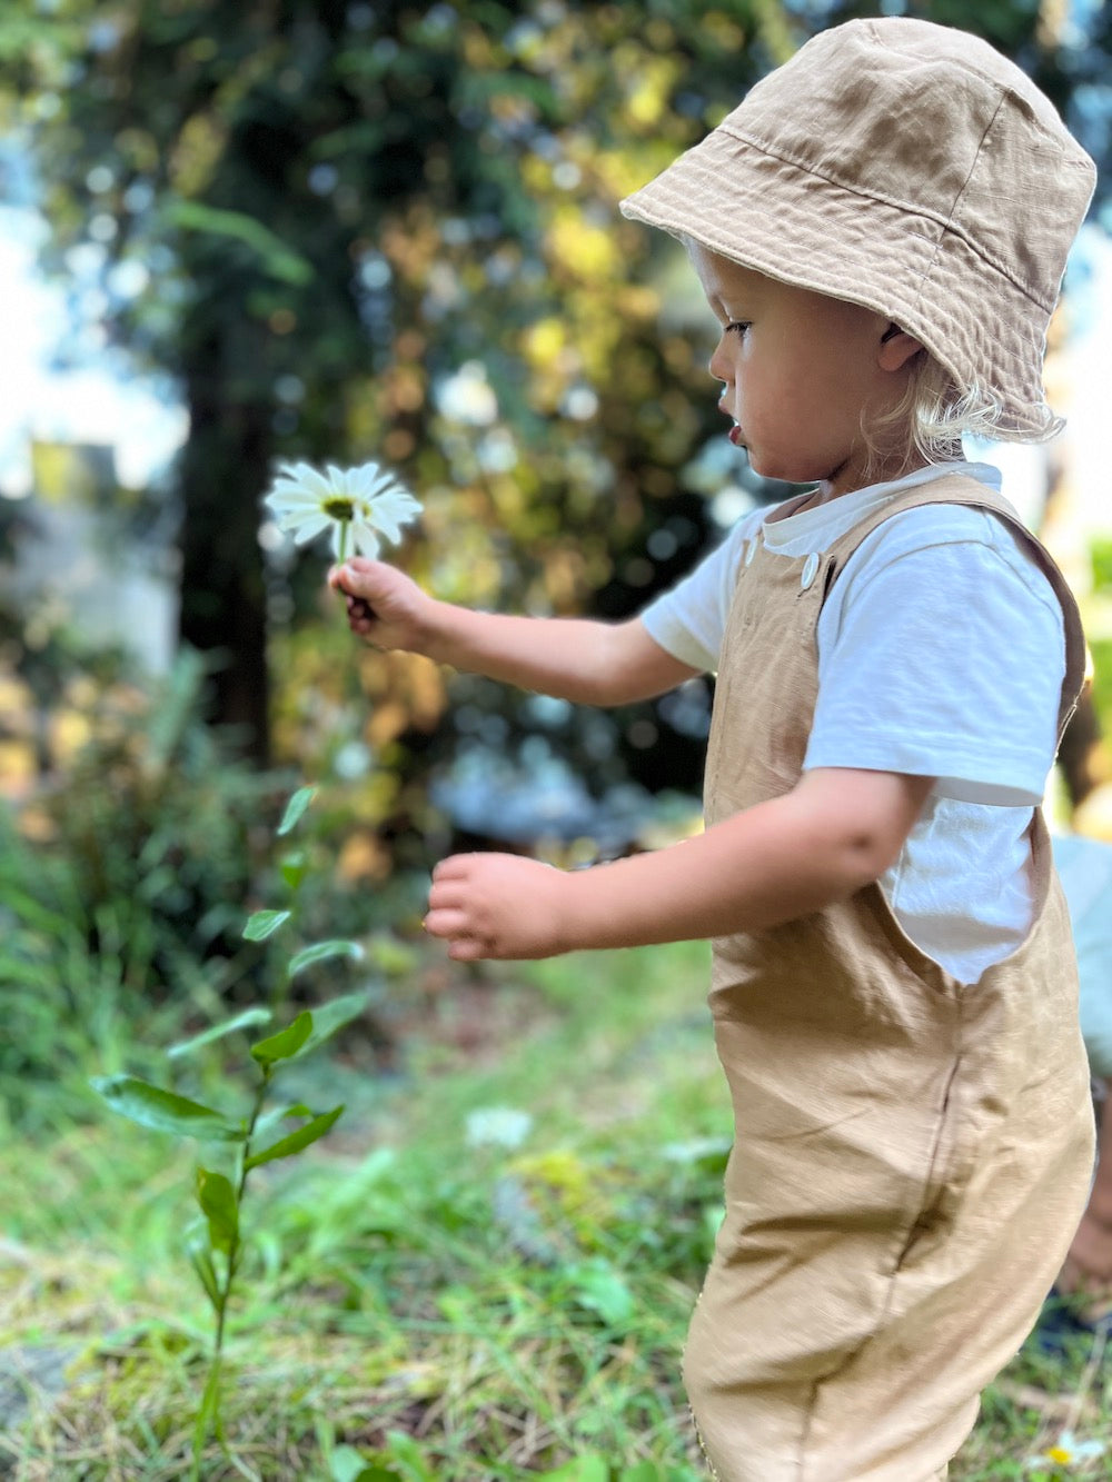
[[[627,622],[329,578],[368,642],[572,701],[718,674],[700,837],[584,871],[449,858],[427,928],[458,960],[713,941],[735,1141],[684,1375],[721,1482],[943,1478],[1085,1203],[1039,811],[1084,645],[961,437],[1057,430],[1041,362],[1093,181],[983,41],[821,33],[623,202],[686,245],[728,436],[813,488]]]

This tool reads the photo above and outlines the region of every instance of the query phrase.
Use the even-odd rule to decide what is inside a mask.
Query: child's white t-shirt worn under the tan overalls
[[[999,488],[986,464],[956,470]],[[648,633],[685,664],[716,670],[747,541],[793,559],[821,554],[894,492],[953,471],[922,468],[778,520],[753,510],[645,609]],[[1054,762],[1066,667],[1054,590],[1004,520],[921,505],[861,541],[823,606],[817,645],[804,769],[937,778],[879,883],[910,940],[976,983],[1032,922],[1026,834]]]

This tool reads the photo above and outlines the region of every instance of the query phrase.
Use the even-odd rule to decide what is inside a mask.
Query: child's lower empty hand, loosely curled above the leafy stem
[[[433,870],[426,931],[460,962],[552,957],[565,940],[572,876],[514,854],[457,854]]]

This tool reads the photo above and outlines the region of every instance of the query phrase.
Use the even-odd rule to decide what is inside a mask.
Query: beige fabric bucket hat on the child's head
[[[885,314],[1036,440],[1047,326],[1096,166],[986,41],[848,21],[621,202],[770,277]]]

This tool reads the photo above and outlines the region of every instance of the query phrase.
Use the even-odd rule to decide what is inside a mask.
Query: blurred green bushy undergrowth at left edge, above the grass
[[[39,657],[43,685],[61,685]],[[44,784],[0,812],[0,1098],[24,1134],[85,1119],[92,1064],[114,1069],[130,1036],[157,1042],[212,1012],[225,971],[246,965],[228,894],[259,873],[254,817],[274,782],[222,757],[196,657],[150,700],[105,673],[65,685]],[[67,731],[62,759],[52,742]]]

